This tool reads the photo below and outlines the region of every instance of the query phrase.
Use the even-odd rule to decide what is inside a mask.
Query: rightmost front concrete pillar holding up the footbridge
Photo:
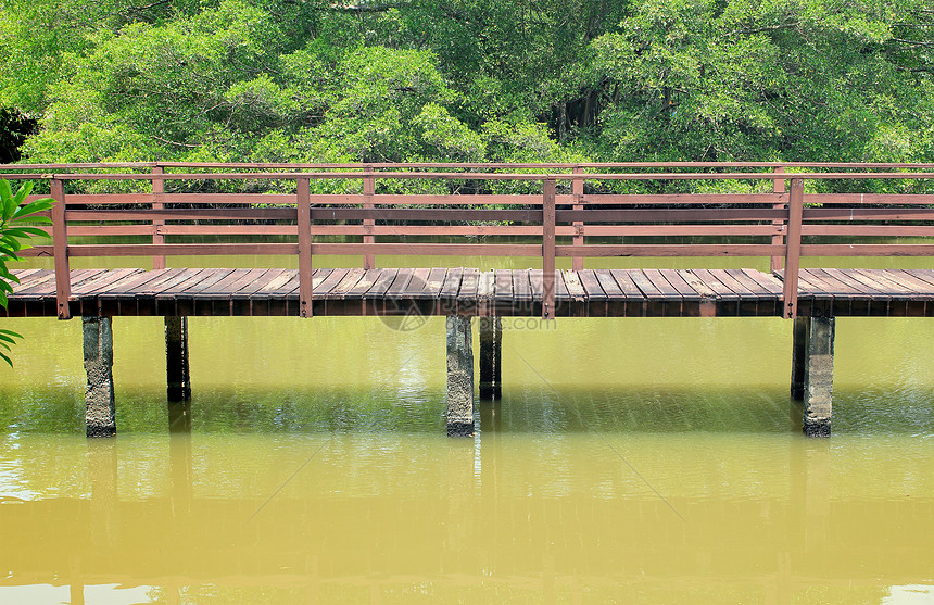
[[[805,362],[803,428],[808,437],[830,437],[833,402],[833,317],[812,317]]]

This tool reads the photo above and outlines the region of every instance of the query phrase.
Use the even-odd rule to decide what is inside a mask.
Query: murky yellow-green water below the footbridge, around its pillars
[[[3,327],[0,603],[934,600],[934,319],[837,320],[830,440],[782,319],[505,319],[474,439],[443,318],[192,317],[190,434],[115,318],[96,441],[79,322]]]

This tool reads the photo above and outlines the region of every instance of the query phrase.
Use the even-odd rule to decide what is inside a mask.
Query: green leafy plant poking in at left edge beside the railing
[[[54,200],[51,198],[42,198],[28,204],[23,204],[26,197],[33,191],[33,184],[23,184],[16,193],[10,188],[10,182],[5,179],[0,179],[0,305],[7,307],[7,295],[13,292],[13,283],[18,283],[20,280],[13,275],[7,266],[8,262],[20,261],[17,252],[25,248],[29,248],[29,240],[34,237],[48,237],[46,231],[38,227],[23,225],[24,219],[28,219],[31,225],[51,225],[52,220],[48,216],[37,216],[41,212],[51,210]],[[0,329],[0,358],[2,358],[10,367],[13,366],[13,361],[4,351],[10,351],[10,346],[15,344],[15,339],[22,339],[23,336],[13,330]]]

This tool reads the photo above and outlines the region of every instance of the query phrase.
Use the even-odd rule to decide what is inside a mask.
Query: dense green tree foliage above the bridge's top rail
[[[3,0],[30,161],[934,161],[925,0]]]

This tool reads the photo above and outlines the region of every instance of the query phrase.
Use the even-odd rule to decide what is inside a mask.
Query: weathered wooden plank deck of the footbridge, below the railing
[[[54,272],[24,269],[17,275],[23,276],[23,283],[11,300],[18,299],[21,305],[33,306],[21,306],[12,313],[17,316],[51,313],[47,307],[48,300],[55,295]],[[288,301],[294,298],[299,287],[295,269],[267,268],[75,269],[71,278],[72,304],[77,303],[81,313],[128,315],[290,314],[294,311],[294,301]],[[777,312],[782,293],[780,279],[749,268],[583,269],[557,272],[556,278],[556,298],[567,305],[560,311],[561,315],[766,315]],[[386,305],[386,300],[391,298],[422,301],[445,297],[455,303],[446,306],[419,304],[424,307],[421,312],[526,315],[534,313],[530,303],[541,302],[542,272],[319,268],[313,274],[313,285],[316,300],[356,297],[370,301],[366,308],[338,304],[327,310],[338,315],[368,314],[367,308],[373,313],[397,312]],[[931,305],[934,270],[800,269],[799,298],[804,301],[803,315],[922,316],[927,314],[929,306],[934,308]],[[155,306],[142,303],[136,306],[135,301],[146,299],[157,302]],[[229,304],[217,306],[215,299],[227,299]],[[254,310],[252,303],[232,304],[235,299],[266,300],[269,304]],[[281,301],[276,302],[277,299]],[[195,304],[195,300],[213,302],[205,307],[202,303]],[[108,304],[103,304],[104,301]],[[716,307],[709,304],[704,307],[708,301],[716,303]],[[591,306],[592,303],[598,306]],[[689,303],[700,303],[700,306]],[[648,304],[654,306],[646,306]],[[732,304],[739,305],[736,313]]]

